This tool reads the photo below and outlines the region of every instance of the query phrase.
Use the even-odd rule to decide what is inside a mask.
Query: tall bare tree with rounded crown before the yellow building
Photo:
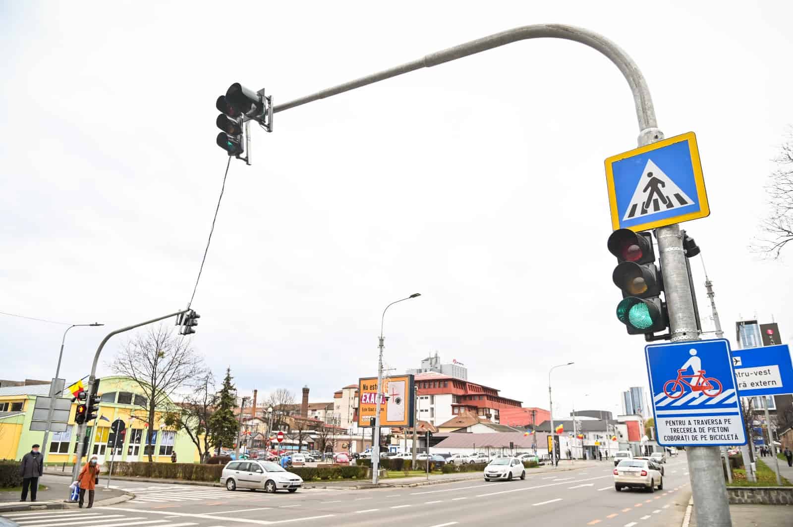
[[[145,450],[151,462],[155,412],[158,408],[167,411],[174,391],[203,375],[204,361],[190,347],[189,340],[174,335],[170,328],[161,324],[133,337],[109,366],[117,375],[132,379],[146,395]]]

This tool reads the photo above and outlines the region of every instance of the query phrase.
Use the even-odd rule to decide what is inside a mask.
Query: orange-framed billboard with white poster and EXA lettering
[[[377,394],[377,377],[358,379],[358,426],[372,426]],[[380,426],[413,426],[416,386],[412,375],[386,377],[379,394]]]

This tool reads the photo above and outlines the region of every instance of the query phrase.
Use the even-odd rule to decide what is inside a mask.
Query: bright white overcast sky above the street
[[[667,137],[696,132],[711,216],[684,227],[726,335],[757,314],[790,342],[793,254],[764,262],[747,246],[793,122],[793,4],[757,3],[0,0],[0,311],[105,323],[70,331],[73,380],[107,331],[185,307],[227,160],[215,99],[232,82],[278,104],[559,22],[633,57]],[[241,391],[307,384],[329,400],[377,374],[383,307],[420,292],[385,320],[397,372],[437,350],[470,380],[547,407],[548,369],[575,361],[554,372],[555,414],[618,411],[619,391],[647,384],[645,342],[615,319],[603,170],[636,147],[638,126],[603,56],[509,44],[274,124],[255,129],[252,166],[232,160],[193,303],[193,346],[218,376],[230,365]],[[64,329],[0,316],[0,377],[53,376]]]

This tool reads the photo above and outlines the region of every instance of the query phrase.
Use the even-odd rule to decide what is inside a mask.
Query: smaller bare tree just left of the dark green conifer
[[[198,459],[203,462],[209,453],[210,433],[209,418],[212,417],[217,403],[215,376],[209,369],[191,381],[189,394],[181,403],[172,404],[165,418],[167,426],[176,430],[184,430],[196,445]]]

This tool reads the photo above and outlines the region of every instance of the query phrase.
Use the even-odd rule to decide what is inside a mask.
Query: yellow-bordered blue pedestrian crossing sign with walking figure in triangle
[[[694,132],[606,159],[611,227],[646,231],[711,213]]]

